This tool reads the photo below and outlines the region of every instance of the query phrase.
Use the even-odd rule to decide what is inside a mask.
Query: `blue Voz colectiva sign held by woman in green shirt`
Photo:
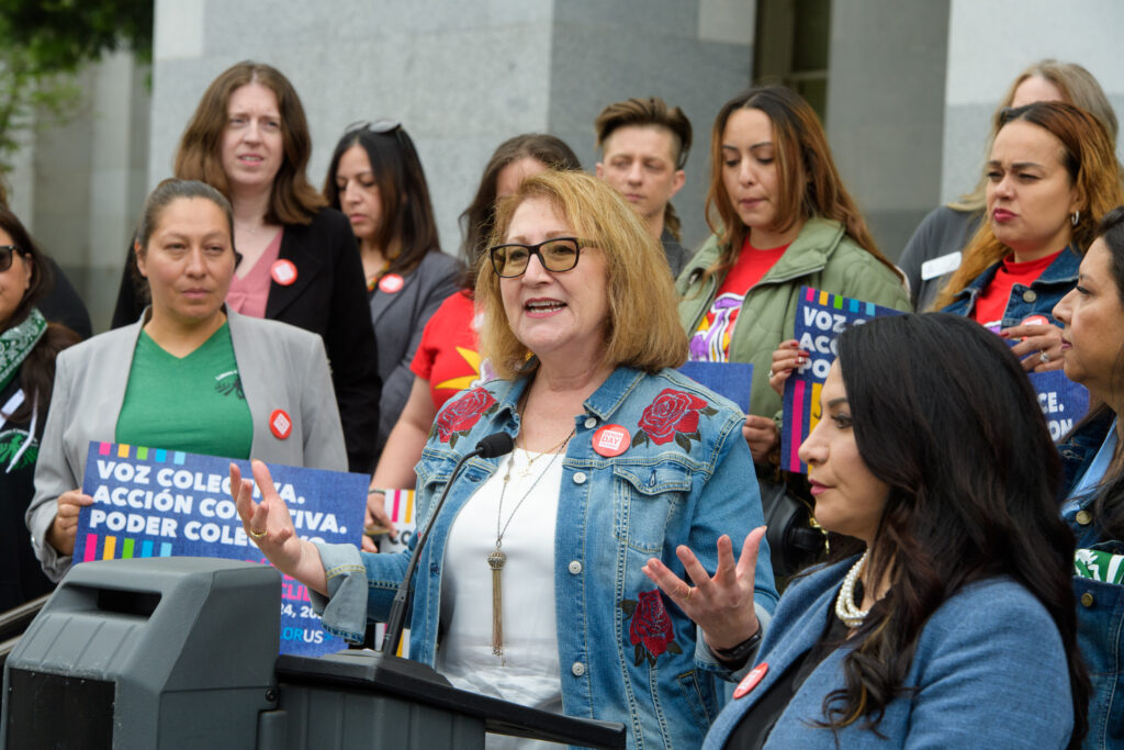
[[[233,461],[250,477],[248,461]],[[230,497],[230,459],[115,443],[90,443],[74,563],[149,557],[210,557],[266,563],[246,536]],[[278,494],[302,539],[357,544],[365,475],[270,466]],[[260,499],[254,488],[255,498]],[[285,577],[281,653],[320,656],[346,648],[320,627],[308,589]]]

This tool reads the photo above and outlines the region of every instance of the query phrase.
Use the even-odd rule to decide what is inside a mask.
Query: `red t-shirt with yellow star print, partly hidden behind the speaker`
[[[457,391],[493,378],[480,374],[475,309],[472,297],[459,291],[433,314],[422,332],[422,343],[410,362],[410,372],[429,381],[429,396],[437,409]]]

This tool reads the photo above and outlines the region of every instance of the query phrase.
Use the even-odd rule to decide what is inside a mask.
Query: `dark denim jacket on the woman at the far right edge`
[[[1112,412],[1090,419],[1059,444],[1066,471],[1067,496],[1089,468],[1108,430]],[[1124,541],[1105,539],[1093,515],[1096,493],[1069,497],[1062,518],[1073,531],[1078,549],[1124,554]],[[1115,748],[1124,743],[1124,586],[1073,577],[1077,602],[1077,644],[1089,668],[1089,731],[1084,748]]]

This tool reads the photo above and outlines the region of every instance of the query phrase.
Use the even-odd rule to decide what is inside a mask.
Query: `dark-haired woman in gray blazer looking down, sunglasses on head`
[[[375,448],[381,453],[410,394],[410,360],[425,324],[456,291],[461,268],[441,252],[425,172],[399,123],[347,128],[332,154],[324,195],[351,222],[363,261],[379,342],[382,398]]]

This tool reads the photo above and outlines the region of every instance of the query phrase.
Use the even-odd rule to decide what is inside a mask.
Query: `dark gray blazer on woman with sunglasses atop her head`
[[[422,263],[404,278],[402,288],[393,293],[373,291],[368,295],[371,324],[378,342],[379,378],[382,397],[379,400],[379,439],[382,452],[390,431],[406,406],[414,386],[410,362],[422,343],[426,322],[441,304],[460,286],[460,261],[439,251],[428,252]]]

